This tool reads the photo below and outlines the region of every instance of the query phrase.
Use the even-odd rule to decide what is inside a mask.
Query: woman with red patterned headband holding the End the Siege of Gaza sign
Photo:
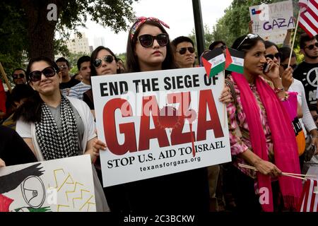
[[[129,31],[126,51],[127,72],[176,69],[168,25],[157,18],[141,17]],[[227,89],[222,101],[230,100]],[[95,143],[102,148],[103,143]],[[102,148],[104,149],[104,148]],[[132,211],[209,210],[208,176],[206,168],[168,174],[138,182],[127,183],[129,207]]]

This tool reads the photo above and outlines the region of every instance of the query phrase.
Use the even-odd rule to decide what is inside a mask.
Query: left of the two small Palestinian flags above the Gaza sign
[[[210,78],[225,69],[225,57],[222,49],[216,48],[202,56],[206,75]]]

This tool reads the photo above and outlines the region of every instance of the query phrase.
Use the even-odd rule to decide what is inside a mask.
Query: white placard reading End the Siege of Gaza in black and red
[[[205,74],[201,67],[92,77],[98,138],[107,143],[103,186],[231,160],[218,101],[224,77]]]

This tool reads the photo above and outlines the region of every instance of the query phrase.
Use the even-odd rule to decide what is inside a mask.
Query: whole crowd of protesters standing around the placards
[[[194,42],[184,36],[170,42],[165,28],[157,18],[138,18],[129,30],[125,66],[110,48],[100,46],[78,59],[76,76],[64,57],[39,56],[30,59],[26,71],[15,69],[12,93],[4,93],[0,83],[0,119],[7,126],[0,127],[0,167],[88,154],[98,211],[163,206],[198,213],[295,211],[302,182],[282,172],[305,173],[306,162],[318,162],[318,41],[300,35],[305,60],[297,65],[290,30],[281,48],[252,33],[231,46],[245,56],[243,74],[228,71],[219,97],[227,105],[232,162],[102,189],[99,153],[107,144],[95,132],[90,77],[198,66]],[[216,48],[225,53],[227,44],[215,41],[203,54]],[[262,187],[269,189],[268,203],[259,202]]]

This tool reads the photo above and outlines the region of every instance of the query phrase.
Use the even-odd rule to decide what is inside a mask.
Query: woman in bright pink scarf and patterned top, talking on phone
[[[232,72],[228,77],[237,97],[236,104],[228,103],[237,210],[295,210],[301,181],[281,173],[299,174],[300,165],[295,133],[281,103],[286,97],[278,65],[266,59],[264,40],[258,35],[238,37],[232,48],[245,52],[244,73]],[[266,76],[275,90],[262,77],[265,64],[269,64]],[[240,167],[240,163],[257,171]]]

